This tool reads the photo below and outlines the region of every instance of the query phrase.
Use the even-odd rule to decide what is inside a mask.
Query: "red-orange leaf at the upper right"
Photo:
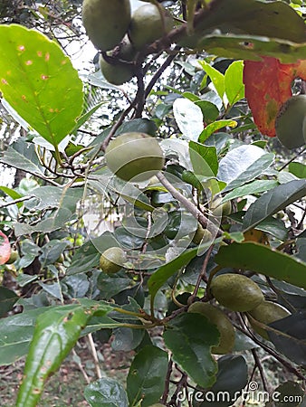
[[[292,80],[306,80],[306,60],[281,63],[272,57],[244,61],[245,97],[253,120],[266,136],[275,137],[275,118],[282,104],[292,97]]]

